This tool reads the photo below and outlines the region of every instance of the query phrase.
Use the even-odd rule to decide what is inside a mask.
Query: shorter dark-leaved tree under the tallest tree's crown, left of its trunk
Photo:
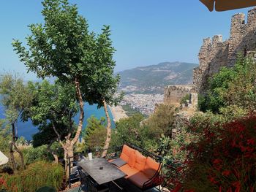
[[[34,84],[34,90],[31,107],[28,112],[23,112],[23,120],[30,118],[39,128],[39,133],[33,136],[33,145],[48,145],[48,150],[56,159],[56,154],[50,150],[50,146],[58,141],[64,149],[67,171],[67,158],[73,155],[73,146],[70,143],[75,138],[74,130],[78,128],[73,120],[78,113],[75,88],[70,84],[62,85],[58,81],[50,84],[44,80]]]

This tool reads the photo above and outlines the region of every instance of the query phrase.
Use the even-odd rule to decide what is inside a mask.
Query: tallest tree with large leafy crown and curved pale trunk
[[[75,137],[67,143],[67,156],[72,157],[73,146],[83,128],[83,101],[109,104],[116,90],[118,77],[113,77],[114,48],[108,26],[97,37],[89,32],[86,19],[78,15],[78,8],[67,0],[42,2],[44,24],[29,26],[26,49],[18,40],[12,45],[22,61],[38,77],[57,77],[60,82],[75,87],[80,108],[80,118]],[[111,76],[110,76],[111,74]],[[108,78],[111,77],[111,78]]]

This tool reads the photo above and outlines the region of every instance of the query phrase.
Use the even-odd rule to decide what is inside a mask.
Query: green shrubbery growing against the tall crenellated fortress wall
[[[236,105],[241,109],[256,107],[256,65],[251,58],[238,58],[233,68],[222,68],[210,80],[206,96],[200,97],[200,110],[216,113],[221,107]]]

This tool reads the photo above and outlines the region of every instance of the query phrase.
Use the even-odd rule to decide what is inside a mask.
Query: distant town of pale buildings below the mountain
[[[163,94],[129,93],[124,96],[121,105],[129,104],[132,109],[138,110],[144,115],[151,115],[154,112],[156,104],[162,103],[163,100]]]

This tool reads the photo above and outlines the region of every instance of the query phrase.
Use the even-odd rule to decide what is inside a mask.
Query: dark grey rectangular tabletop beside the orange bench
[[[78,162],[78,165],[81,166],[99,185],[126,176],[124,172],[121,172],[116,166],[110,164],[105,158],[93,158],[92,161],[86,159]],[[99,169],[101,166],[103,169]]]

